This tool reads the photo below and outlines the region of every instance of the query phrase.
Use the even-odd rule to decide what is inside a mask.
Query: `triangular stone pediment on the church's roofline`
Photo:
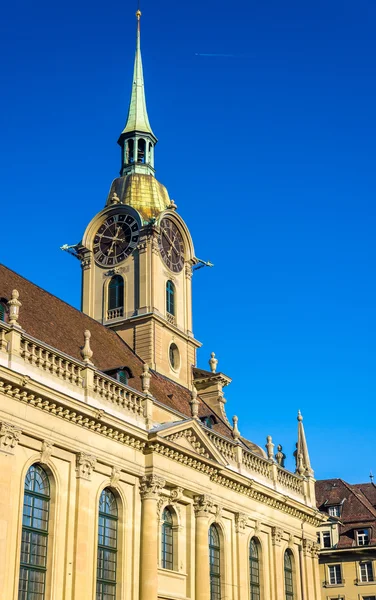
[[[180,446],[184,450],[194,452],[202,458],[207,458],[226,466],[228,461],[217,450],[210,441],[201,425],[195,419],[171,423],[170,426],[163,426],[159,430],[150,432],[159,439],[164,439],[174,445]]]

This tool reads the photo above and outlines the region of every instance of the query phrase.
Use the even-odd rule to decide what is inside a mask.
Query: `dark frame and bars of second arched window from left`
[[[101,502],[102,502],[102,496],[104,494],[108,494],[111,495],[113,498],[113,502],[116,508],[116,515],[115,514],[111,514],[110,512],[106,512],[105,510],[101,510]],[[106,507],[107,505],[105,505]],[[101,519],[103,519],[103,534],[101,534]],[[105,543],[100,543],[100,537],[102,535],[102,537],[105,539],[106,537],[106,531],[108,531],[108,525],[107,525],[107,521],[109,521],[110,523],[115,523],[115,527],[114,529],[110,530],[110,532],[115,531],[115,546],[111,546],[109,544],[105,544]],[[106,586],[111,586],[114,588],[114,594],[113,594],[113,599],[116,600],[117,598],[117,590],[118,590],[118,573],[119,570],[121,570],[121,565],[119,568],[119,533],[120,533],[120,527],[119,527],[119,503],[118,503],[118,498],[115,495],[114,491],[112,488],[110,487],[105,487],[99,496],[99,501],[98,501],[98,516],[97,516],[97,558],[96,558],[96,574],[95,574],[95,599],[96,600],[103,600],[105,597],[108,597],[108,592],[105,591]],[[109,563],[109,558],[106,557],[106,553],[108,556],[112,555],[114,557],[113,559],[113,564],[114,564],[114,579],[109,579],[106,578],[104,576],[100,576],[99,574],[104,573],[106,570],[108,571],[108,569],[105,568],[105,564],[106,561],[107,563]],[[101,561],[103,561],[103,564],[100,566]]]

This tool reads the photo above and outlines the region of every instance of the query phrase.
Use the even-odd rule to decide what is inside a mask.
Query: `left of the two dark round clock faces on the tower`
[[[94,258],[100,265],[117,265],[135,249],[140,235],[134,217],[127,213],[111,215],[94,237]]]

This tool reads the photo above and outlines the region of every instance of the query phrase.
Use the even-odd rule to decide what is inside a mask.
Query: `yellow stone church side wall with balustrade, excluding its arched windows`
[[[51,349],[44,361],[30,360],[26,341],[17,327],[0,324],[2,600],[17,600],[23,485],[33,463],[43,465],[51,482],[45,600],[95,599],[98,502],[107,486],[119,506],[117,600],[209,600],[211,523],[221,536],[222,600],[249,598],[252,536],[261,550],[262,600],[285,599],[287,548],[294,557],[294,600],[320,599],[320,515],[310,481],[192,419],[176,415],[158,429],[171,410],[134,390],[121,407],[116,392],[100,394],[109,378],[94,367],[72,359],[79,380],[69,381],[51,372]],[[35,344],[34,352],[40,348]],[[160,567],[166,505],[176,520],[171,571]]]

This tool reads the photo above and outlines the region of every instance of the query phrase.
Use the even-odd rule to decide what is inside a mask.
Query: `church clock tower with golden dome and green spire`
[[[191,387],[200,343],[192,333],[192,238],[154,176],[137,11],[136,54],[120,177],[77,247],[82,310],[114,329],[150,368]]]

